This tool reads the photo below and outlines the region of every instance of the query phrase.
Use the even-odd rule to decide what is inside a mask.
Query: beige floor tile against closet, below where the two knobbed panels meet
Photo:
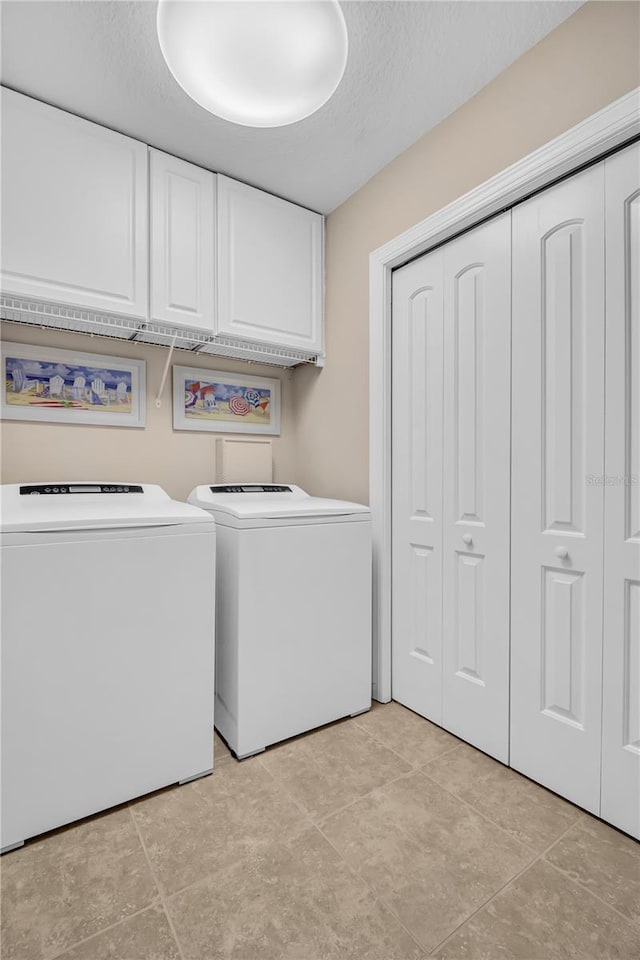
[[[581,815],[577,807],[467,744],[425,773],[538,853]]]

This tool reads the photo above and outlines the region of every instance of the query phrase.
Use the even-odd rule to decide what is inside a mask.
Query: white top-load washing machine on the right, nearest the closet
[[[189,502],[216,520],[215,716],[236,756],[368,710],[369,508],[293,484],[200,486]]]

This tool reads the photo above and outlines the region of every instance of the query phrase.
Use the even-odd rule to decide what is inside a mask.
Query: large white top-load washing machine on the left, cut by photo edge
[[[211,772],[215,524],[146,484],[0,498],[5,851]]]

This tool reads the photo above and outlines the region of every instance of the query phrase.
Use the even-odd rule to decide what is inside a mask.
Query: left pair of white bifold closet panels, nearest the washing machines
[[[398,270],[392,320],[392,695],[504,761],[510,241],[506,214]]]

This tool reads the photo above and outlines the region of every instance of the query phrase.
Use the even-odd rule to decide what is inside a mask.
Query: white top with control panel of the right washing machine
[[[233,483],[200,486],[188,497],[193,503],[215,516],[238,520],[285,519],[287,517],[362,517],[369,507],[346,500],[311,497],[293,483]]]

